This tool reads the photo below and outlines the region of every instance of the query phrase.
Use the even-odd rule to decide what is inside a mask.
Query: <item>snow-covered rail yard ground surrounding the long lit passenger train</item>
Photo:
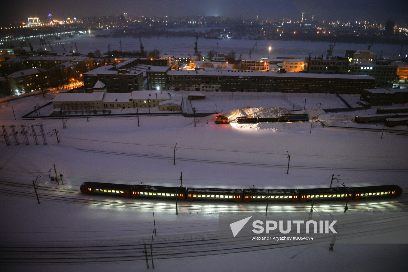
[[[262,95],[259,94],[259,101],[265,100]],[[310,134],[310,122],[216,125],[214,116],[196,118],[196,127],[193,118],[182,116],[141,116],[140,127],[137,127],[135,117],[93,117],[89,123],[86,118],[69,119],[67,129],[62,129],[61,120],[21,120],[21,116],[31,111],[34,105],[47,103],[53,96],[32,96],[0,105],[0,125],[5,125],[12,143],[7,147],[4,138],[0,142],[0,247],[56,246],[59,250],[67,250],[64,246],[75,245],[81,246],[77,250],[84,250],[82,246],[85,245],[130,245],[129,250],[107,254],[135,256],[135,261],[47,266],[3,263],[4,271],[111,271],[118,268],[121,271],[143,271],[146,262],[142,245],[150,245],[153,212],[157,228],[157,236],[153,238],[153,255],[155,269],[159,271],[191,267],[195,271],[246,271],[249,267],[252,270],[287,271],[299,267],[323,270],[328,263],[334,271],[344,270],[345,264],[350,266],[350,270],[389,271],[391,263],[392,270],[404,269],[406,245],[335,245],[333,252],[328,251],[326,244],[263,248],[244,253],[231,249],[215,251],[220,249],[219,245],[196,245],[198,242],[191,241],[196,239],[206,243],[207,239],[216,236],[219,211],[263,211],[264,204],[248,206],[244,203],[185,201],[179,202],[179,214],[175,215],[173,201],[142,202],[84,196],[79,193],[79,186],[85,181],[177,186],[182,172],[184,187],[246,188],[255,185],[313,188],[328,187],[332,174],[335,174],[339,182],[334,181],[334,186],[341,186],[341,183],[346,186],[397,184],[406,192],[406,136],[386,132],[381,139],[381,133],[327,130],[319,123],[313,123]],[[299,98],[300,102],[302,99]],[[309,98],[306,99],[306,109],[309,109]],[[310,103],[316,104],[313,99],[310,98]],[[237,103],[235,109],[238,109],[252,101],[226,98],[227,102],[230,110],[234,102]],[[213,101],[209,99],[208,103]],[[286,102],[275,98],[265,106],[282,107],[282,103]],[[336,102],[328,100],[327,103]],[[14,120],[11,107],[17,120]],[[252,110],[260,112],[260,109]],[[339,116],[342,113],[330,116],[318,108],[311,110],[322,114],[319,118],[337,116],[344,120]],[[354,112],[342,115],[348,114],[354,116]],[[42,145],[41,136],[38,136],[40,144],[34,145],[33,136],[29,135],[30,145],[24,145],[22,135],[18,134],[20,145],[14,145],[9,126],[16,125],[18,129],[22,124],[42,124],[46,133],[57,129],[61,142],[57,144],[56,137],[48,134],[48,145]],[[173,165],[176,143],[176,164]],[[286,174],[287,152],[290,155],[289,174]],[[48,171],[53,164],[58,172],[64,174],[64,185],[47,182]],[[40,205],[36,203],[30,187],[31,181],[39,174],[38,183],[42,186],[38,189]],[[274,203],[270,208],[271,212],[297,210],[307,213],[310,204],[294,207],[288,203]],[[344,203],[328,202],[316,209],[322,214],[342,212]],[[406,210],[406,195],[403,194],[398,200],[350,203],[348,212]],[[175,247],[175,244],[162,244],[169,247],[160,247],[155,244],[174,241],[190,242],[188,247]],[[202,252],[203,248],[209,251]],[[19,256],[27,260],[38,257],[77,258],[80,254],[99,256],[97,249],[101,248],[79,253],[73,252],[73,249],[41,253],[37,249]],[[175,255],[170,256],[172,253]],[[190,257],[177,258],[182,256]],[[291,259],[292,256],[295,257]],[[362,260],[369,260],[368,264]]]

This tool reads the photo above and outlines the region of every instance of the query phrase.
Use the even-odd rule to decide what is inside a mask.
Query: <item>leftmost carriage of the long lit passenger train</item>
[[[102,182],[84,182],[82,183],[80,190],[82,194],[108,194],[115,196],[129,197],[132,185],[127,184],[115,184],[115,183],[102,183]]]

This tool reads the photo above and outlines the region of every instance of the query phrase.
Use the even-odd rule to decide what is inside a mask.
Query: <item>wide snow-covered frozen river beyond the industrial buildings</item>
[[[98,32],[99,33],[99,32]],[[103,31],[101,33],[106,33]],[[82,54],[88,52],[93,52],[95,50],[100,50],[101,52],[106,52],[108,45],[111,46],[111,50],[120,50],[119,40],[122,40],[122,50],[123,51],[139,51],[139,39],[131,37],[122,38],[95,38],[95,33],[91,34],[85,33],[82,36],[75,35],[73,38],[68,38],[68,35],[61,37],[61,40],[56,41],[54,37],[47,38],[51,45],[56,42],[65,43],[65,48],[70,49],[71,46],[75,49],[74,43],[77,44],[78,51]],[[32,39],[31,42],[35,46],[39,46],[39,41],[37,39]],[[169,53],[175,55],[188,55],[194,54],[194,37],[185,38],[143,38],[142,42],[145,51],[150,51],[153,49],[158,49],[161,54]],[[206,55],[211,49],[217,48],[218,42],[218,53],[227,54],[229,51],[234,50],[237,54],[242,53],[244,58],[249,55],[249,50],[253,47],[255,42],[258,42],[257,47],[253,50],[253,58],[268,57],[268,47],[271,46],[271,58],[276,57],[295,57],[295,58],[305,58],[312,54],[312,56],[319,56],[326,51],[329,47],[330,42],[310,42],[310,41],[283,41],[283,40],[234,40],[234,39],[205,39],[199,38],[198,50],[202,54]],[[68,43],[68,45],[67,45]],[[69,45],[71,44],[71,45]],[[366,44],[354,44],[354,43],[341,43],[340,45],[335,45],[333,50],[334,56],[345,56],[346,50],[357,50],[357,49],[367,49]],[[54,50],[63,50],[62,46],[53,46]],[[47,48],[50,50],[50,48]],[[383,56],[386,58],[398,58],[398,54],[401,50],[401,45],[386,45],[386,44],[375,44],[371,51],[373,51],[377,56],[383,51]],[[407,48],[403,48],[403,56],[408,53]]]

